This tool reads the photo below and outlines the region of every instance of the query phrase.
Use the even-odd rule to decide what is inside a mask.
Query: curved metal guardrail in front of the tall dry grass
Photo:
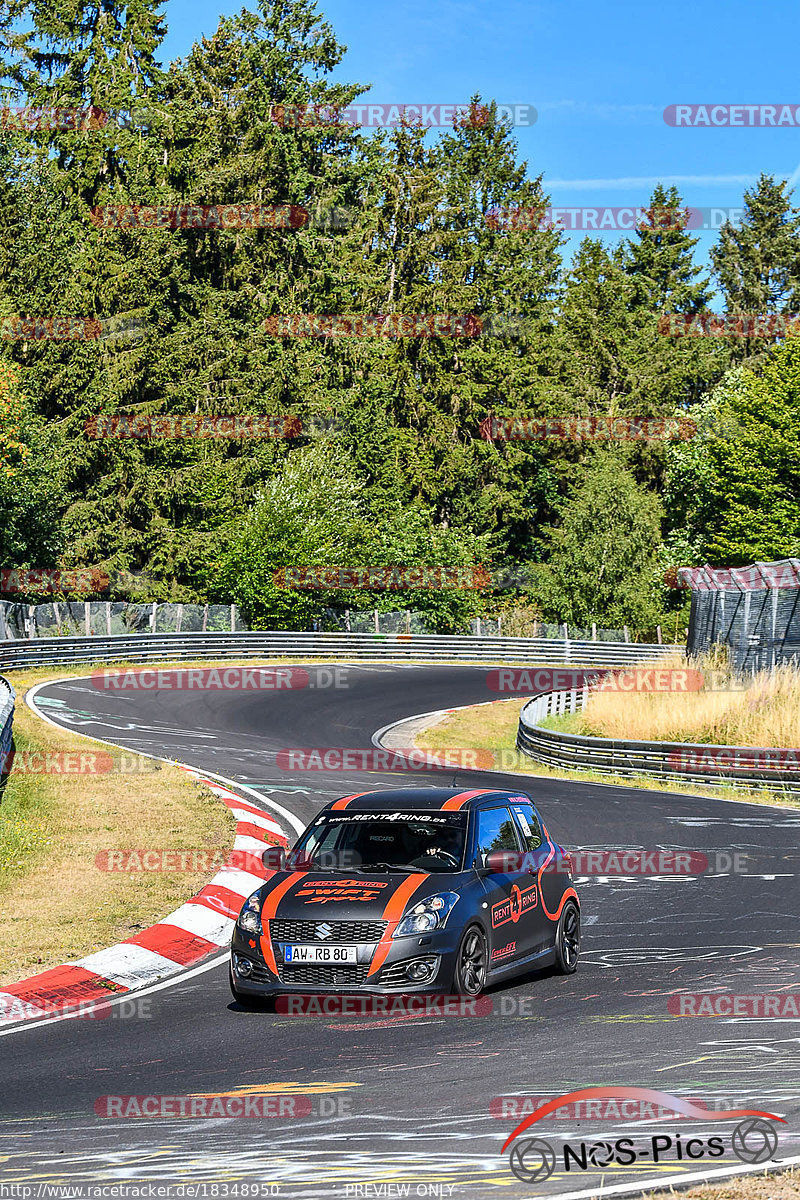
[[[800,751],[774,748],[721,746],[688,742],[618,742],[576,733],[545,730],[539,724],[560,713],[578,713],[588,689],[548,691],[529,700],[519,714],[517,749],[536,762],[572,770],[595,770],[613,775],[657,775],[681,782],[768,788],[800,793]],[[759,763],[771,757],[775,769]],[[781,767],[788,758],[798,768]],[[675,760],[679,760],[676,762]],[[752,768],[747,760],[753,761]],[[680,763],[684,763],[681,766]],[[698,763],[704,763],[700,769]]]

